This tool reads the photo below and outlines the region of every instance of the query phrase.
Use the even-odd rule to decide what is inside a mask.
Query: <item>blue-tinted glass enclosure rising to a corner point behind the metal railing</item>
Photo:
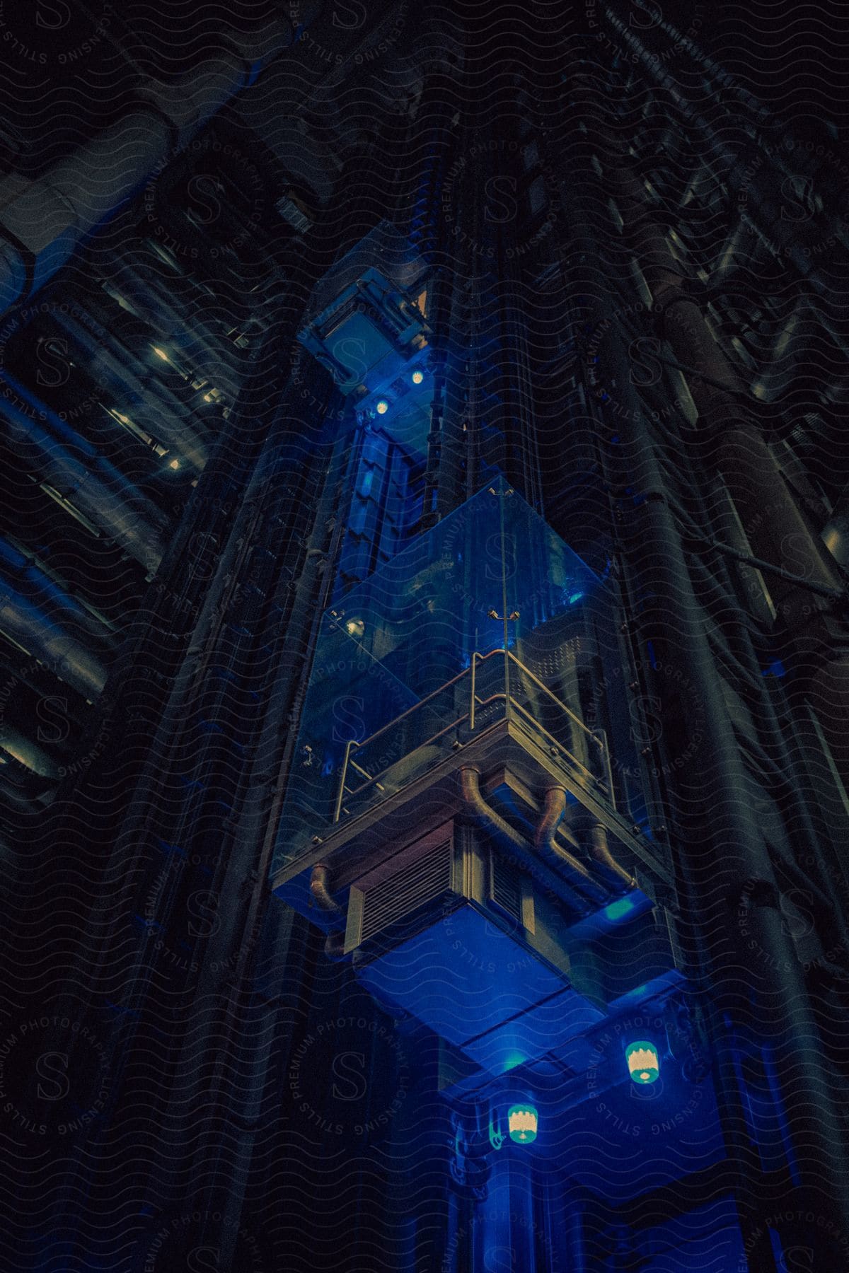
[[[509,710],[589,782],[608,784],[605,737],[626,757],[615,774],[635,771],[621,694],[607,703],[622,685],[614,614],[503,479],[417,536],[322,616],[275,869],[467,738],[474,652],[476,733]]]

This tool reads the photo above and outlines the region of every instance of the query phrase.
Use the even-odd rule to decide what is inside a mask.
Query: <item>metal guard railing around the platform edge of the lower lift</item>
[[[499,689],[495,694],[490,694],[486,698],[481,699],[477,694],[480,684],[480,668],[482,667],[482,665],[489,663],[490,659],[504,659],[505,684],[504,687]],[[524,708],[518,701],[518,699],[510,693],[510,675],[509,675],[510,665],[514,665],[516,668],[521,672],[521,675],[523,677],[527,677],[527,680],[541,694],[544,694],[546,699],[550,700],[551,704],[554,704],[559,714],[564,719],[569,721],[570,727],[577,728],[580,733],[586,736],[591,749],[592,745],[594,743],[594,746],[598,749],[601,754],[600,763],[601,768],[603,769],[605,774],[603,778],[600,778],[598,774],[596,774],[589,765],[584,764],[583,760],[575,756],[574,752],[565,746],[563,740],[555,737],[555,735],[552,735],[549,729],[546,729],[546,727],[540,721],[537,721],[533,717],[533,714],[528,712],[527,708]],[[363,768],[363,765],[358,764],[356,760],[354,760],[351,755],[354,749],[356,749],[360,754],[367,752],[374,745],[375,740],[383,737],[389,731],[401,727],[403,722],[411,719],[412,717],[415,717],[416,713],[420,713],[426,707],[434,704],[434,701],[440,695],[444,695],[446,691],[451,690],[452,686],[458,685],[466,677],[470,681],[468,710],[462,712],[460,715],[454,717],[452,721],[443,724],[439,729],[432,732],[426,738],[423,738],[412,743],[400,756],[393,757],[389,764],[383,764],[382,768],[379,768],[374,774],[369,773],[368,769]],[[481,737],[482,733],[486,732],[486,729],[490,729],[494,727],[494,724],[499,723],[499,721],[489,719],[486,724],[482,727],[482,729],[480,727],[480,717],[482,709],[488,708],[493,703],[504,704],[504,715],[499,717],[499,721],[510,717],[512,713],[516,713],[517,723],[522,724],[532,735],[541,736],[546,741],[549,750],[554,749],[559,756],[565,756],[565,759],[568,759],[568,761],[582,774],[584,780],[594,783],[600,788],[600,791],[605,794],[605,797],[610,801],[610,803],[611,805],[614,803],[612,768],[610,760],[610,750],[607,747],[607,738],[605,736],[603,729],[591,729],[589,726],[587,726],[580,719],[579,715],[577,715],[570,708],[568,708],[566,704],[563,703],[556,696],[556,694],[554,694],[547,687],[547,685],[545,685],[537,676],[535,676],[535,673],[528,667],[526,667],[524,663],[522,663],[516,657],[516,654],[510,653],[509,649],[494,649],[490,651],[489,654],[480,654],[477,651],[475,651],[475,653],[471,657],[470,666],[467,668],[463,668],[462,672],[458,672],[457,676],[453,676],[449,681],[446,681],[444,685],[439,686],[439,689],[433,690],[433,693],[428,694],[419,703],[415,703],[411,708],[407,708],[406,712],[402,712],[400,715],[395,717],[392,721],[382,726],[379,729],[377,729],[368,738],[364,738],[361,742],[358,742],[355,738],[347,740],[347,742],[345,743],[345,756],[342,760],[342,769],[340,774],[340,782],[333,806],[333,822],[339,822],[342,813],[349,812],[347,808],[345,807],[346,799],[349,802],[356,799],[369,787],[373,788],[375,792],[383,792],[386,787],[381,782],[381,779],[386,779],[387,774],[389,774],[392,769],[400,765],[403,760],[409,760],[417,751],[421,751],[424,747],[434,746],[435,743],[438,743],[442,738],[444,738],[447,733],[451,733],[452,729],[460,731],[461,727],[467,726],[468,735],[477,735],[477,737]],[[457,737],[456,741],[460,742],[461,741],[460,737]],[[359,785],[349,787],[347,780],[351,770],[365,780],[359,783]]]

